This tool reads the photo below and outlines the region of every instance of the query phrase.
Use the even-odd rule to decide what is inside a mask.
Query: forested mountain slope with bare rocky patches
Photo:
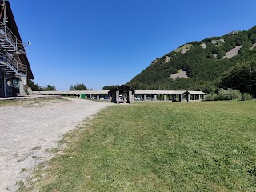
[[[127,85],[142,90],[209,93],[223,85],[220,83],[222,76],[231,67],[250,61],[256,61],[256,26],[180,46],[155,59]]]

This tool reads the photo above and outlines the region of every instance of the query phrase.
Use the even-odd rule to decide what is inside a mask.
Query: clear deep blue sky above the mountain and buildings
[[[10,0],[34,82],[124,84],[186,42],[256,25],[255,0]]]

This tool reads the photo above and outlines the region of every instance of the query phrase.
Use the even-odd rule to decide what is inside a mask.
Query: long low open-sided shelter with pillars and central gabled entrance
[[[34,94],[42,95],[77,95],[79,97],[97,100],[108,97],[114,103],[132,103],[135,98],[140,97],[143,101],[172,101],[172,102],[200,102],[204,99],[202,91],[188,90],[134,90],[130,86],[122,85],[114,90],[73,90],[73,91],[34,91]]]

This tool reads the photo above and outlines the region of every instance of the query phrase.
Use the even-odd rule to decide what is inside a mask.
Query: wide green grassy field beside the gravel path
[[[256,190],[256,102],[111,106],[63,142],[64,154],[42,165],[31,186],[40,191]]]

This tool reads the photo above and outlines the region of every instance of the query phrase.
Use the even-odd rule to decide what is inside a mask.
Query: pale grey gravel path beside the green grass
[[[113,105],[78,98],[25,102],[0,107],[0,191],[17,190],[16,182],[51,158],[46,149],[98,110]]]

